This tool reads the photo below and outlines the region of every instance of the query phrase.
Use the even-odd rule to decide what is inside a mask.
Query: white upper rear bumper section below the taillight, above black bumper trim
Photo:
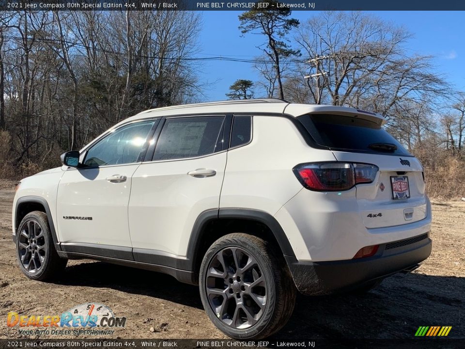
[[[362,247],[411,238],[431,230],[429,201],[427,216],[421,221],[368,229],[360,218],[356,188],[340,193],[304,189],[276,214],[299,261],[352,259]],[[309,205],[312,202],[317,204]]]

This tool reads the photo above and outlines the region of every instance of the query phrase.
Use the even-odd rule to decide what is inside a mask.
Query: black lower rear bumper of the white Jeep
[[[405,244],[409,242],[407,240],[380,245],[375,255],[366,258],[325,262],[298,261],[293,256],[285,258],[295,286],[301,293],[319,295],[344,292],[369,281],[411,269],[431,254],[430,238]]]

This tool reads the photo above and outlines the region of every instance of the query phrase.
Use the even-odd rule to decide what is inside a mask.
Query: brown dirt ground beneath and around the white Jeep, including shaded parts
[[[197,287],[167,275],[80,260],[70,261],[57,283],[27,279],[11,239],[13,196],[13,182],[0,181],[0,338],[24,337],[6,326],[9,311],[53,315],[86,302],[127,317],[112,338],[225,338],[204,313]],[[363,296],[299,296],[276,339],[412,338],[418,326],[434,325],[465,338],[465,202],[434,202],[433,214],[433,253],[420,268]]]

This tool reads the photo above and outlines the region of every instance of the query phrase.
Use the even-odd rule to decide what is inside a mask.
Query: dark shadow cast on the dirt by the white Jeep
[[[109,287],[202,309],[197,286],[169,275],[103,262],[68,266],[57,282]],[[414,338],[419,326],[452,326],[449,338],[465,338],[465,278],[396,274],[370,292],[298,295],[294,314],[272,339]]]

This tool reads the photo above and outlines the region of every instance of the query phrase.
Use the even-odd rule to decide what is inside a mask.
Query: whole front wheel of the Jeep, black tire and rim
[[[60,258],[44,212],[28,213],[19,223],[16,235],[16,256],[21,271],[32,280],[50,281],[66,267]]]

